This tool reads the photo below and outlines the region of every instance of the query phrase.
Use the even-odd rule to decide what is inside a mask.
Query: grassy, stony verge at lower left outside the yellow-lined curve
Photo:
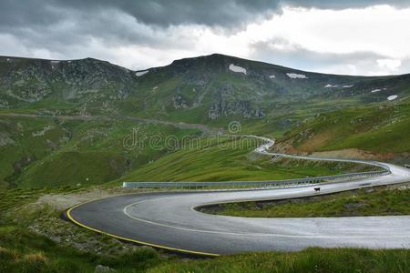
[[[0,272],[143,272],[171,260],[152,248],[124,244],[61,218],[62,208],[40,202],[44,195],[84,194],[88,187],[18,188],[0,192]]]

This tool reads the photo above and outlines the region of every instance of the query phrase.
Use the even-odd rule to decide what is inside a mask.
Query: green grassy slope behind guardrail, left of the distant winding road
[[[0,147],[0,179],[19,187],[59,187],[102,184],[124,180],[251,180],[336,174],[354,169],[343,164],[280,162],[254,158],[256,142],[198,138],[173,152],[167,136],[197,136],[198,130],[173,126],[136,124],[121,120],[58,120],[33,117],[1,117],[7,137],[14,143]],[[138,128],[137,146],[124,147],[124,137]],[[42,133],[44,131],[44,134]],[[149,143],[159,136],[159,143]],[[144,138],[146,137],[146,138]],[[207,143],[210,141],[210,144]],[[184,142],[188,143],[188,142]],[[172,146],[172,140],[169,146]],[[204,147],[209,146],[209,147]],[[150,160],[155,160],[147,164]],[[1,180],[0,180],[1,181]],[[1,183],[0,183],[1,184]]]

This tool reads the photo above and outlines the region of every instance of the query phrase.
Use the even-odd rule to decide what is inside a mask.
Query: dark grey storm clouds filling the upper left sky
[[[0,1],[0,34],[17,37],[27,46],[53,49],[91,38],[122,45],[169,45],[158,33],[169,25],[209,25],[241,29],[283,5],[345,8],[374,4],[409,5],[409,1],[302,0],[30,0]],[[407,4],[405,4],[407,3]],[[137,26],[136,26],[137,25]],[[183,46],[174,41],[178,46]],[[187,41],[185,41],[187,43]]]

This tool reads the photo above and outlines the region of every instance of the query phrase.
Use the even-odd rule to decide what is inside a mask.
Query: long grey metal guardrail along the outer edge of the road
[[[364,177],[375,177],[390,174],[390,171],[371,171],[363,173],[349,173],[335,176],[324,177],[307,177],[285,180],[267,180],[267,181],[223,181],[223,182],[123,182],[124,188],[201,188],[201,187],[294,187],[302,185],[311,185],[323,182],[331,182],[338,179],[356,179]]]

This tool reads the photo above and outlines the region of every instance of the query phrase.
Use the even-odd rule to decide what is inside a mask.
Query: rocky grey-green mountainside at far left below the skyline
[[[121,99],[135,86],[131,71],[92,58],[73,61],[9,58],[0,60],[0,106],[35,103],[47,96],[66,100]],[[113,96],[114,95],[114,96]]]

